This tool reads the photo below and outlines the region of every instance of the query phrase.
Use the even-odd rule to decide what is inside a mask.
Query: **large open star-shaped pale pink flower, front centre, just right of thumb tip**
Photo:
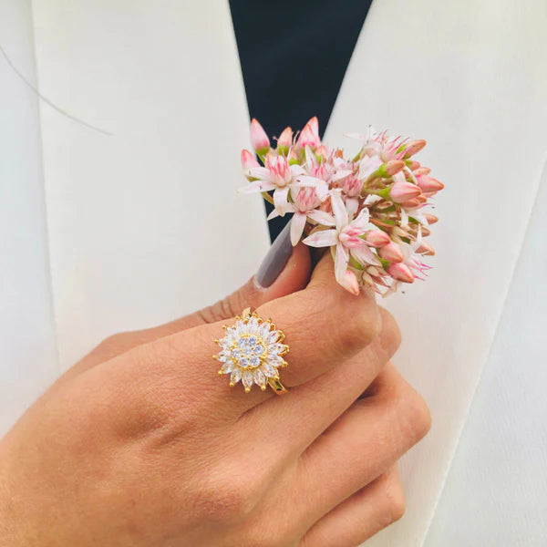
[[[350,222],[341,193],[342,191],[339,189],[333,190],[331,193],[335,229],[315,232],[304,239],[304,243],[312,247],[335,246],[335,277],[338,283],[344,279],[350,253],[358,263],[381,264],[377,255],[368,248],[361,237],[369,228],[368,209],[363,209]]]

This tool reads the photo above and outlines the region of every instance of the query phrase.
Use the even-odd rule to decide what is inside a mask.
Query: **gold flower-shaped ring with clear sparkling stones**
[[[224,336],[215,340],[221,351],[212,356],[222,363],[219,376],[231,375],[231,387],[241,380],[246,393],[253,384],[262,390],[269,385],[277,395],[286,393],[278,370],[287,366],[283,357],[289,351],[289,346],[283,344],[283,331],[277,329],[271,319],[264,321],[256,315],[253,308],[246,308],[241,317],[236,316],[233,325],[222,325],[222,328]]]

